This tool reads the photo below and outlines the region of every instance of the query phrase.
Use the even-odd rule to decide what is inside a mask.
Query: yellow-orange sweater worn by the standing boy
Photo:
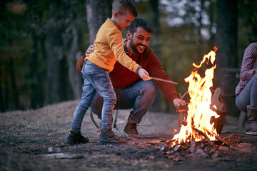
[[[96,66],[113,71],[116,61],[136,73],[139,65],[126,55],[122,46],[121,29],[111,19],[99,28],[94,41],[94,52],[85,58]]]

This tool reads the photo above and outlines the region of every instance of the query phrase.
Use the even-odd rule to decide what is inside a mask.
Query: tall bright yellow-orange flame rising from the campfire
[[[216,68],[216,64],[214,61],[216,59],[215,51],[210,51],[207,55],[203,56],[203,60],[197,66],[193,63],[193,66],[201,68],[202,64],[210,63],[211,68],[206,69],[205,77],[201,78],[201,76],[196,71],[192,71],[191,75],[188,78],[185,78],[186,83],[189,83],[188,93],[190,95],[190,101],[188,103],[188,115],[187,115],[187,125],[181,125],[181,130],[178,134],[174,135],[172,139],[173,145],[178,145],[181,142],[190,142],[191,140],[200,141],[204,140],[203,136],[196,133],[197,130],[201,130],[202,133],[207,135],[210,140],[216,140],[217,132],[214,128],[214,123],[210,123],[211,117],[218,118],[219,115],[211,110],[209,107],[211,105],[211,90],[210,88],[213,86],[213,76],[214,69]],[[216,106],[214,107],[216,108]]]

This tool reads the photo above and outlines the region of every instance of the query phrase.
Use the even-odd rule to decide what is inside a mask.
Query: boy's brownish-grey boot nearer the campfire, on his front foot
[[[99,142],[102,144],[122,144],[126,143],[127,140],[115,135],[112,130],[101,130]]]

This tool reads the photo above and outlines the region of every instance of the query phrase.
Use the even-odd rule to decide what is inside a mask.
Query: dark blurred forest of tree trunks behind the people
[[[111,17],[111,2],[1,0],[0,112],[81,98],[76,59]],[[182,95],[192,64],[218,47],[213,88],[221,87],[228,114],[238,115],[234,92],[243,51],[257,41],[257,1],[136,0],[136,6],[155,29],[149,46]],[[151,110],[176,111],[161,92]]]

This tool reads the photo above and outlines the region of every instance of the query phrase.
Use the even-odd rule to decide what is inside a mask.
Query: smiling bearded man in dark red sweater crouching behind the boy
[[[153,50],[148,47],[151,33],[153,33],[153,28],[147,21],[134,19],[131,21],[126,35],[127,43],[124,46],[124,50],[133,61],[136,61],[143,69],[148,71],[149,76],[171,81],[171,78],[163,70],[161,61],[153,53]],[[89,56],[89,53],[94,51],[92,47],[94,46],[89,46],[86,56]],[[124,133],[130,138],[141,138],[136,126],[141,122],[143,115],[146,114],[146,111],[153,103],[157,92],[156,86],[176,108],[183,105],[182,100],[178,98],[175,86],[171,83],[155,81],[155,85],[151,80],[143,81],[138,74],[129,71],[118,62],[114,65],[114,70],[109,75],[117,98],[114,109],[133,108],[129,115],[128,123],[124,128]],[[91,105],[91,110],[100,119],[103,101],[103,98],[96,94]]]

